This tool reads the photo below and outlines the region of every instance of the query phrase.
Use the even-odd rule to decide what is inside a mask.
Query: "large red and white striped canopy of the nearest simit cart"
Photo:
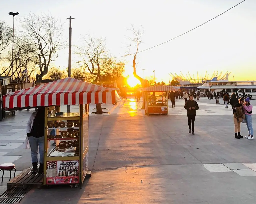
[[[51,105],[115,103],[116,91],[73,78],[26,88],[3,96],[3,107],[24,108]]]

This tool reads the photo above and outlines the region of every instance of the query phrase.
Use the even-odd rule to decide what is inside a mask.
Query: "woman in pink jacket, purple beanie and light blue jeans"
[[[253,136],[253,127],[252,127],[252,105],[250,104],[250,98],[247,97],[243,105],[243,110],[246,118],[246,125],[248,127],[249,134],[246,136],[247,139],[254,139]]]

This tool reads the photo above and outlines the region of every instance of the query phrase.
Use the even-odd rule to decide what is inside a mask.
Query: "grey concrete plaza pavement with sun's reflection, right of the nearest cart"
[[[91,115],[93,172],[83,190],[34,189],[22,203],[255,203],[255,141],[234,139],[232,110],[206,99],[198,102],[196,134],[189,134],[184,103],[176,100],[168,116],[145,116],[128,98],[111,105],[108,115]],[[27,156],[15,161],[23,167],[30,165],[24,151]]]

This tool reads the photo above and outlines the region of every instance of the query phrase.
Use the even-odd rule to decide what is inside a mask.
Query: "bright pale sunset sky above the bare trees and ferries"
[[[12,25],[10,11],[19,17],[48,13],[64,22],[63,39],[68,42],[72,15],[72,44],[81,45],[81,36],[90,33],[106,38],[106,48],[112,56],[127,53],[128,28],[143,25],[145,33],[140,50],[165,42],[219,15],[242,0],[179,0],[179,1],[84,1],[84,0],[12,0],[1,1],[0,19]],[[247,0],[236,8],[202,27],[164,45],[138,54],[137,72],[143,77],[168,82],[168,73],[188,71],[191,74],[232,72],[235,80],[256,80],[256,1]],[[15,29],[20,24],[15,22]],[[16,31],[17,32],[17,31]],[[73,46],[73,49],[75,47]],[[72,54],[72,65],[79,57]],[[122,60],[122,58],[120,58]],[[132,75],[132,57],[126,57],[126,75]],[[68,66],[68,49],[60,52],[56,66]],[[211,74],[210,74],[211,75]]]

